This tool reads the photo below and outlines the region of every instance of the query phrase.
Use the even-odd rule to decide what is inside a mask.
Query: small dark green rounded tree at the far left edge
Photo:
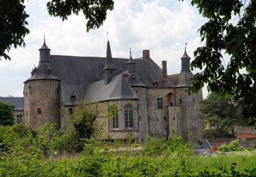
[[[0,101],[0,125],[13,125],[14,113],[10,104]]]

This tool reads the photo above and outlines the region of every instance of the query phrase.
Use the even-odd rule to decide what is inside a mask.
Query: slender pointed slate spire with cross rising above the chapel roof
[[[104,66],[105,85],[109,84],[109,82],[111,81],[113,76],[115,76],[114,71],[115,71],[115,66],[114,66],[114,62],[112,59],[111,48],[110,48],[110,44],[109,44],[109,40],[108,40],[108,42],[106,44],[106,63]]]

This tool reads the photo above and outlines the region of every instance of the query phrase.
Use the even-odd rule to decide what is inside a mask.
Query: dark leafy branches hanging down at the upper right
[[[199,29],[204,46],[194,52],[191,69],[203,69],[192,79],[189,92],[206,83],[208,91],[234,95],[243,115],[256,127],[256,1],[191,0],[208,18]],[[229,63],[223,62],[223,53]]]

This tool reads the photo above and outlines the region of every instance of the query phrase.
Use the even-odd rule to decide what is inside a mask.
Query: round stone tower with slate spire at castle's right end
[[[193,74],[190,71],[190,57],[186,53],[186,46],[181,60],[182,68],[175,85],[176,112],[173,111],[178,118],[174,119],[175,114],[171,114],[173,119],[170,118],[170,124],[180,127],[177,134],[182,135],[186,142],[190,141],[190,135],[192,135],[191,140],[196,142],[201,140],[203,132],[203,120],[199,118],[199,107],[203,94],[201,90],[192,95],[187,93]]]

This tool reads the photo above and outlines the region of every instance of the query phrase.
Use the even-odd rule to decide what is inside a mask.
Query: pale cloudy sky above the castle
[[[193,51],[202,46],[198,29],[206,21],[189,1],[178,0],[118,0],[114,10],[107,12],[104,25],[86,32],[83,14],[72,15],[66,21],[48,15],[48,0],[29,0],[25,8],[30,33],[26,47],[12,48],[11,61],[0,61],[0,96],[23,97],[23,82],[38,65],[39,51],[46,37],[51,54],[105,57],[109,42],[113,57],[142,57],[142,50],[150,50],[150,57],[161,67],[167,61],[167,73],[178,74],[180,57],[186,51],[193,60]],[[197,71],[193,71],[195,74]],[[203,88],[203,97],[208,94]]]

